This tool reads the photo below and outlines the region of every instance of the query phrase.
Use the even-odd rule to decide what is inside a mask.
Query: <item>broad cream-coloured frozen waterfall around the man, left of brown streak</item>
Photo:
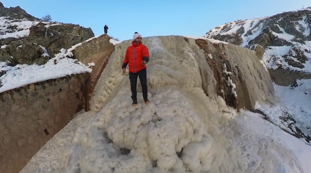
[[[22,173],[311,169],[309,145],[258,113],[237,112],[222,97],[206,96],[198,69],[205,56],[194,39],[168,36],[143,42],[151,56],[147,64],[151,102],[143,102],[138,85],[139,103],[132,106],[128,74],[120,68],[130,41],[115,45],[95,87],[91,111],[77,114]]]

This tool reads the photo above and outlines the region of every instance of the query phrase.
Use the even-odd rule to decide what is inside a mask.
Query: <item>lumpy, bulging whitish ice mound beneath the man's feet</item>
[[[130,97],[119,93],[77,130],[73,145],[63,154],[62,171],[200,172],[211,168],[213,139],[179,91],[157,90],[149,97],[151,103],[138,100],[141,103],[136,106],[125,98]]]

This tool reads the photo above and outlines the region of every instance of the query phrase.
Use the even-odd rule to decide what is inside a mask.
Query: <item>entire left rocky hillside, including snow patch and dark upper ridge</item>
[[[9,62],[8,65],[11,66],[45,64],[54,54],[59,53],[61,48],[68,49],[94,37],[90,28],[75,24],[41,22],[20,7],[7,9],[1,4],[0,8],[0,15],[6,16],[2,19],[3,29],[0,31],[0,46],[5,46],[0,49],[0,61]],[[29,34],[24,35],[27,32]]]

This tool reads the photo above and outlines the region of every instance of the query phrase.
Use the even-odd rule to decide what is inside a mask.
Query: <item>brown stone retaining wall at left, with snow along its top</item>
[[[18,172],[85,108],[89,73],[0,93],[0,172]]]

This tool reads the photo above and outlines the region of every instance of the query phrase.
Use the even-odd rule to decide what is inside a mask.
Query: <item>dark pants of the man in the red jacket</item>
[[[147,89],[147,70],[142,69],[141,71],[137,73],[129,73],[130,77],[130,82],[131,82],[131,91],[132,91],[132,99],[136,100],[137,99],[137,90],[136,90],[136,85],[137,85],[137,77],[139,76],[140,83],[142,85],[142,95],[144,99],[148,98],[148,89]]]

